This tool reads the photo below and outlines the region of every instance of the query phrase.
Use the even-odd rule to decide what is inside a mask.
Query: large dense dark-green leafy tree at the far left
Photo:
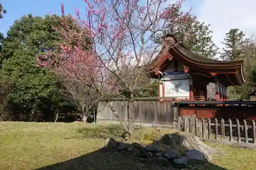
[[[37,67],[35,61],[36,56],[58,48],[60,35],[53,28],[59,27],[60,19],[30,14],[16,20],[7,32],[0,75],[2,81],[12,80],[8,81],[12,88],[7,95],[11,119],[53,121],[56,110],[74,110],[59,93],[58,79],[49,69]]]

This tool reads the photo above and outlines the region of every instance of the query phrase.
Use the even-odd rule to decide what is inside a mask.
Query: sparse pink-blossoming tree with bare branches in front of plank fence
[[[188,12],[181,11],[184,0],[168,4],[166,0],[84,0],[86,15],[76,9],[78,28],[73,31],[65,19],[60,32],[63,41],[57,55],[47,54],[38,59],[41,66],[50,66],[70,81],[81,82],[93,89],[116,117],[119,114],[109,102],[110,94],[128,98],[127,116],[133,131],[131,105],[134,95],[147,87],[152,60],[161,50],[154,37],[166,24],[186,23]],[[64,14],[64,7],[62,14]],[[168,23],[166,23],[168,20]],[[89,39],[85,43],[84,39]],[[174,45],[172,43],[172,45]],[[166,44],[165,44],[166,46]],[[54,56],[54,57],[51,57]],[[45,60],[44,60],[45,59]]]

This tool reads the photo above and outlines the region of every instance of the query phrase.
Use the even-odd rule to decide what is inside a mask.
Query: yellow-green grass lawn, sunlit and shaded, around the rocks
[[[168,132],[137,128],[132,141],[151,143]],[[167,169],[120,153],[100,152],[106,137],[120,138],[121,135],[118,125],[109,124],[0,122],[0,169]],[[226,155],[188,169],[255,169],[256,150],[213,146],[222,148]]]

